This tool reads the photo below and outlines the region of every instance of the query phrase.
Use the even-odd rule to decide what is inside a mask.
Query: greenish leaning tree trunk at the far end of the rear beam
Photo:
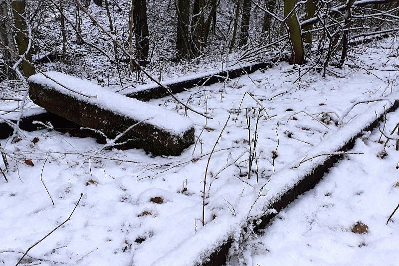
[[[305,51],[303,48],[301,26],[294,8],[295,0],[284,0],[284,17],[288,17],[286,24],[292,48],[290,63],[302,65],[305,63]]]

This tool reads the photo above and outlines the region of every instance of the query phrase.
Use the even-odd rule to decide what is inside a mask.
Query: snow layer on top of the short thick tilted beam
[[[136,121],[146,121],[148,124],[176,134],[183,134],[193,127],[190,119],[176,112],[125,97],[64,73],[49,71],[44,74],[35,74],[29,77],[29,82],[40,84],[49,90],[57,90],[79,101],[94,104]]]

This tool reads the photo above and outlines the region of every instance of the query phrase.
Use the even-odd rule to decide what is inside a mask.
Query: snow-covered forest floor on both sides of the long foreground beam
[[[243,204],[246,198],[252,199],[274,174],[337,133],[340,122],[351,127],[371,106],[352,109],[356,102],[398,91],[397,48],[397,40],[389,38],[353,49],[359,61],[348,61],[342,69],[329,67],[326,78],[320,71],[279,63],[177,94],[213,118],[187,112],[197,141],[180,156],[104,150],[92,138],[49,129],[23,132],[17,142],[0,140],[9,164],[9,182],[0,185],[0,263],[15,265],[28,247],[68,218],[82,193],[71,220],[29,251],[25,265],[201,261],[197,249],[211,248],[226,231],[240,231],[233,226],[236,217],[250,212]],[[5,89],[0,93],[12,94]],[[150,103],[186,113],[171,97]],[[13,108],[14,103],[0,103],[0,110]],[[398,122],[398,112],[388,116],[387,131]],[[391,141],[388,155],[377,158],[384,150],[378,138],[379,132],[373,132],[358,140],[354,149],[364,154],[348,155],[320,185],[281,212],[264,236],[242,244],[247,245],[247,264],[357,265],[357,257],[366,255],[361,259],[373,258],[371,265],[396,260],[389,245],[398,244],[399,220],[385,223],[399,202],[399,153]],[[202,226],[203,179],[216,142]],[[249,167],[253,150],[256,159]],[[367,224],[369,233],[351,233],[357,221]]]

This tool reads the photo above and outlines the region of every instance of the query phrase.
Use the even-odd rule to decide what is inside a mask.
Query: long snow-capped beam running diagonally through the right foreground
[[[353,148],[358,137],[364,132],[375,129],[386,113],[393,112],[398,107],[398,95],[387,99],[387,101],[371,105],[366,112],[351,120],[350,124],[314,146],[307,154],[299,156],[291,166],[273,175],[270,182],[267,181],[267,185],[260,184],[252,193],[240,196],[239,209],[242,211],[238,211],[236,208],[237,212],[234,216],[217,217],[212,223],[205,225],[201,231],[186,239],[178,248],[153,263],[152,266],[225,265],[229,250],[240,233],[245,234],[252,230],[259,232],[267,227],[278,212],[297,199],[299,195],[313,189],[324,174],[343,157],[342,152]],[[319,154],[332,155],[318,156]],[[307,158],[314,158],[302,163],[304,155],[307,155]],[[261,193],[263,188],[267,189],[266,193]],[[262,197],[257,197],[261,194]],[[255,198],[257,200],[254,202]],[[249,215],[254,220],[247,224]],[[210,239],[209,236],[213,238]],[[199,248],[186,248],[193,245]]]

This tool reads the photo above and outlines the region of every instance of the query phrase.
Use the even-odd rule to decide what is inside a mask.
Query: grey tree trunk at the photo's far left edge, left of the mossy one
[[[8,17],[8,7],[6,0],[0,0],[0,42],[5,46],[8,46],[8,49],[1,47],[1,54],[4,60],[5,71],[7,73],[8,79],[16,79],[15,72],[10,68],[14,64],[13,56],[11,51],[16,51],[14,40],[12,38],[11,28],[8,24],[9,17]]]

